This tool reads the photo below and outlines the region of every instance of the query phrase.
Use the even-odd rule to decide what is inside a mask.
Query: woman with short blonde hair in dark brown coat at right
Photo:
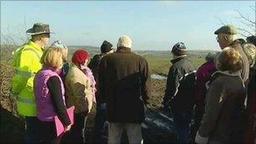
[[[225,48],[217,57],[217,71],[206,93],[205,114],[195,136],[196,143],[233,143],[241,141],[241,110],[245,88],[240,76],[242,57]]]

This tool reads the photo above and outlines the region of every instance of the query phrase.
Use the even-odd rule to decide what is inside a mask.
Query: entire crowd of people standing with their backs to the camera
[[[27,143],[84,143],[93,103],[94,142],[104,142],[106,121],[108,143],[120,143],[123,131],[130,143],[143,142],[141,123],[149,105],[149,70],[147,60],[132,52],[129,36],[120,36],[116,51],[104,40],[101,54],[90,59],[89,52],[81,49],[68,62],[68,48],[61,41],[45,48],[51,36],[48,24],[36,23],[27,33],[31,40],[14,51],[12,61],[12,93],[19,115],[25,118]],[[192,137],[197,143],[229,143],[244,136],[244,142],[252,142],[255,36],[248,37],[248,43],[237,40],[232,25],[224,25],[215,34],[222,51],[206,56],[197,72],[184,43],[173,45],[163,108],[173,114],[179,142],[189,142]],[[73,125],[67,114],[72,106]],[[192,113],[195,134],[189,128]],[[56,134],[55,116],[64,127],[61,136]]]

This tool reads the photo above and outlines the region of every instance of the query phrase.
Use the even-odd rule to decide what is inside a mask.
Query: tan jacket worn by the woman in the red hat
[[[72,65],[65,78],[67,107],[75,105],[75,113],[90,112],[93,107],[93,93],[89,78]]]

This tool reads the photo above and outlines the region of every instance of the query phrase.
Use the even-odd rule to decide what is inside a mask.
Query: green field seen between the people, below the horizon
[[[1,45],[1,63],[7,63],[7,61],[10,60],[11,57],[11,51],[13,51],[15,48],[13,45]],[[84,49],[89,51],[91,58],[99,54],[99,47],[93,47],[93,46],[68,46],[68,61],[71,60],[72,54],[77,49]],[[172,56],[170,54],[170,51],[134,51],[136,54],[141,55],[145,57],[148,61],[148,65],[150,68],[151,73],[162,73],[167,74],[168,69],[171,66],[170,60],[172,59]],[[211,51],[212,52],[212,51]],[[200,67],[202,63],[204,63],[205,59],[204,57],[208,51],[188,51],[189,59],[193,62],[194,66]]]

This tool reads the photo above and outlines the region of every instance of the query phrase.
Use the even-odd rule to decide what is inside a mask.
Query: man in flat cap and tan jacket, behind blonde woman
[[[232,24],[227,24],[222,26],[220,29],[217,29],[214,34],[217,35],[216,40],[219,43],[221,50],[226,47],[230,47],[239,51],[243,61],[241,77],[243,78],[243,83],[248,83],[249,62],[243,51],[241,42],[237,40],[237,28]]]

